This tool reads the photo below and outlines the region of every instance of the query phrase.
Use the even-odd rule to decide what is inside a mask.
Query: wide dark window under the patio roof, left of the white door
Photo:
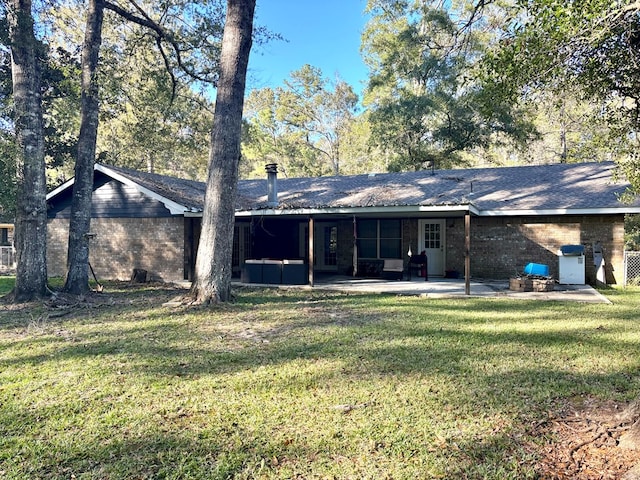
[[[400,220],[360,220],[358,256],[360,258],[402,258]]]

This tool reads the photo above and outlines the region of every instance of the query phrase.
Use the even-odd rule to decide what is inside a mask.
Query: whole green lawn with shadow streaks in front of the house
[[[637,289],[247,289],[208,310],[107,292],[0,307],[0,478],[536,478],[531,425],[640,392]]]

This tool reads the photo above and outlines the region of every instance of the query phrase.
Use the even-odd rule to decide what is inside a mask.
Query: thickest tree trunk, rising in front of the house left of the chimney
[[[191,294],[201,303],[231,298],[240,132],[255,5],[256,0],[227,1],[202,233],[191,287]]]

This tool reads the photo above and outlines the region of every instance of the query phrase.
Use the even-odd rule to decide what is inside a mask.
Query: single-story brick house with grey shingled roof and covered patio
[[[533,262],[557,278],[558,251],[571,244],[585,248],[588,282],[599,245],[607,283],[621,283],[624,216],[640,213],[640,201],[619,200],[629,185],[611,162],[320,178],[277,178],[267,167],[264,179],[238,185],[238,276],[252,259],[296,260],[310,283],[321,272],[377,275],[384,259],[406,268],[409,252],[424,252],[429,277],[509,278]],[[72,184],[47,196],[52,276],[65,274]],[[191,279],[204,191],[201,182],[97,164],[90,261],[98,277],[128,279],[142,268]]]

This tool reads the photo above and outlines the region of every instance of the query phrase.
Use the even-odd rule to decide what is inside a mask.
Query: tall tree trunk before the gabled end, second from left
[[[91,0],[82,48],[82,110],[69,221],[67,279],[64,291],[76,295],[89,290],[89,229],[93,166],[98,135],[98,58],[102,44],[104,1]]]

